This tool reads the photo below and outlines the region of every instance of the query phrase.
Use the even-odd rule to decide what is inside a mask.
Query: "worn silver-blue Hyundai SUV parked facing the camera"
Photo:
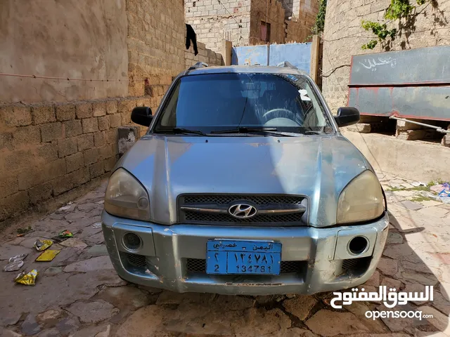
[[[179,74],[117,162],[103,233],[123,279],[169,289],[264,295],[366,282],[387,237],[383,189],[307,74],[207,67]]]

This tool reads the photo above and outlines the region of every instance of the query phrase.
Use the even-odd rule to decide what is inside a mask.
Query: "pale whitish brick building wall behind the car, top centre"
[[[198,41],[207,48],[220,52],[223,39],[232,41],[233,46],[249,44],[250,0],[221,0],[221,4],[216,0],[184,2],[186,23],[192,25]]]

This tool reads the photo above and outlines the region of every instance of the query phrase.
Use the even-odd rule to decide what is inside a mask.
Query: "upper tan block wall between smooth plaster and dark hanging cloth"
[[[127,0],[127,18],[129,95],[161,98],[185,67],[183,1]]]

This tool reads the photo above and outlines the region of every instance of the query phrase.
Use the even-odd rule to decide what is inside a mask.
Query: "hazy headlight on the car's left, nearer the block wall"
[[[149,220],[148,200],[148,194],[141,183],[124,169],[118,169],[106,187],[105,211],[121,218]]]

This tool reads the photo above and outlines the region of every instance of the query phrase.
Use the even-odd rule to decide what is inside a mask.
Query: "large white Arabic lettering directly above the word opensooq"
[[[337,296],[330,301],[330,304],[335,309],[341,309],[342,305],[350,305],[352,302],[359,300],[366,301],[382,301],[386,308],[394,308],[397,304],[404,305],[409,301],[427,302],[433,300],[433,286],[425,286],[425,295],[423,293],[416,292],[396,292],[395,288],[390,288],[386,291],[386,286],[380,286],[378,293],[376,291],[366,293],[364,288],[358,292],[357,288],[352,289],[352,292],[346,291],[345,293],[333,292],[333,295]],[[342,305],[335,302],[342,300]]]

